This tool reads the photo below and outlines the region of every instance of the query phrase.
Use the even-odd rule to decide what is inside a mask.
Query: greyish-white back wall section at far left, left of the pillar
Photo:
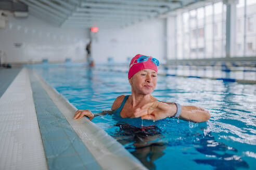
[[[60,29],[31,15],[23,19],[8,16],[8,22],[6,29],[0,29],[0,50],[5,53],[2,62],[85,61],[87,30]],[[15,43],[22,45],[16,47]]]

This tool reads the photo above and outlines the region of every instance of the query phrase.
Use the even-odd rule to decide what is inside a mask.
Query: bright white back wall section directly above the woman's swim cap
[[[136,54],[164,59],[166,55],[164,20],[143,21],[125,28],[101,30],[93,40],[92,55],[96,63],[107,62],[111,56],[115,62],[126,62]]]

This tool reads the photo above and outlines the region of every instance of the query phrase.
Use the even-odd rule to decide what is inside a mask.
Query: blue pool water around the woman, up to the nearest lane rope
[[[126,73],[88,69],[84,64],[33,67],[78,109],[109,110],[117,96],[131,94]],[[256,169],[255,84],[159,76],[152,95],[206,108],[211,119],[152,122],[108,115],[93,122],[149,169]]]

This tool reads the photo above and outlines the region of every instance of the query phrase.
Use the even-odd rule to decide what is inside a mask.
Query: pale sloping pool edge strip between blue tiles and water
[[[31,72],[103,169],[147,169],[118,141],[93,122],[86,118],[73,120],[77,109],[35,70]]]

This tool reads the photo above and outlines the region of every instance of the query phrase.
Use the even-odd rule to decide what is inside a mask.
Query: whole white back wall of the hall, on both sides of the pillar
[[[85,29],[60,29],[41,19],[8,16],[7,29],[0,29],[0,50],[5,52],[2,63],[34,63],[85,61],[85,46],[89,41]],[[140,53],[163,60],[166,57],[164,20],[143,21],[121,29],[100,29],[93,40],[92,56],[96,63],[126,62],[127,57]],[[21,43],[16,47],[15,43]],[[162,61],[161,61],[162,63]]]

